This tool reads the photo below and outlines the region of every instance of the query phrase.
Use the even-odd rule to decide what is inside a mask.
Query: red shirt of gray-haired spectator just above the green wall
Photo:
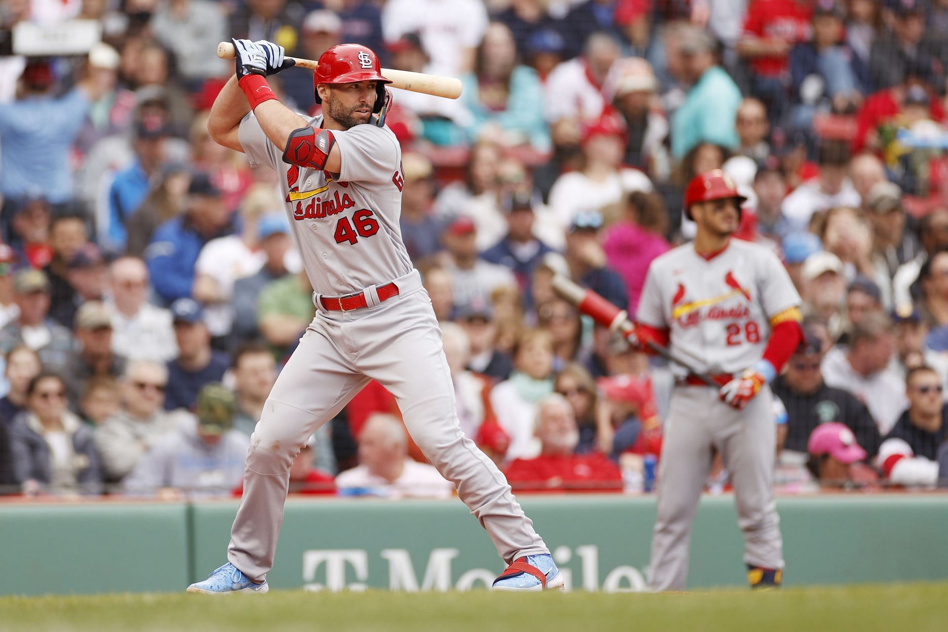
[[[619,466],[602,454],[517,459],[504,474],[514,492],[621,492]]]

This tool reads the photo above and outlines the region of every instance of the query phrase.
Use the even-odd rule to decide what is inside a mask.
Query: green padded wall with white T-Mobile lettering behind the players
[[[640,590],[653,497],[522,497],[567,586]],[[948,496],[783,498],[786,584],[948,579]],[[236,502],[0,505],[0,594],[174,591],[224,563]],[[705,497],[690,587],[744,583],[731,497]],[[502,569],[457,499],[291,499],[275,588],[482,588]]]

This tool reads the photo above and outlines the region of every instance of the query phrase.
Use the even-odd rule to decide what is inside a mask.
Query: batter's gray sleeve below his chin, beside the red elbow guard
[[[398,140],[388,128],[365,123],[345,132],[333,132],[342,157],[342,182],[392,182],[398,170]]]

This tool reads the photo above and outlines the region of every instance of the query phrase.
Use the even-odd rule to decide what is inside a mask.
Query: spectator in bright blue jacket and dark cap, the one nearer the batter
[[[145,250],[145,262],[158,296],[168,302],[191,297],[194,265],[201,248],[228,234],[231,221],[221,191],[206,173],[194,173],[184,214],[158,226]]]

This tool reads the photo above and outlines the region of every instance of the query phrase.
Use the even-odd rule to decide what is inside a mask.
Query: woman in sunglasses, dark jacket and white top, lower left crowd
[[[27,494],[100,489],[92,430],[66,407],[65,385],[58,375],[40,373],[30,380],[27,409],[10,428],[10,449],[17,482]]]

